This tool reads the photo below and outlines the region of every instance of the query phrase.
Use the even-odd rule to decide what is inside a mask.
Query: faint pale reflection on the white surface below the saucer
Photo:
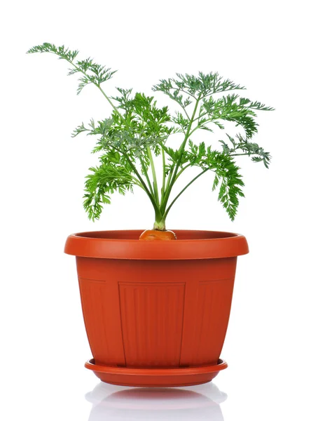
[[[212,383],[191,389],[133,389],[101,382],[85,398],[93,404],[89,421],[223,421],[219,403],[227,395]]]

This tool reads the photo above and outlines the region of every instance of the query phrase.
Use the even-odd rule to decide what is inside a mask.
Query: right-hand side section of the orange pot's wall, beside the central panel
[[[186,281],[179,366],[217,363],[228,327],[236,261],[211,259],[190,264],[193,278]]]

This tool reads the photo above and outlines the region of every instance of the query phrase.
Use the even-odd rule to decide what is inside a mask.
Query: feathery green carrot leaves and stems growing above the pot
[[[138,186],[152,203],[153,229],[164,231],[167,214],[179,196],[207,171],[214,173],[212,190],[218,189],[219,201],[234,220],[239,197],[244,196],[235,156],[250,156],[268,168],[269,152],[252,142],[252,138],[258,128],[256,113],[272,107],[240,96],[244,86],[223,79],[218,73],[176,74],[153,86],[153,91],[164,93],[179,106],[180,111],[170,114],[168,107],[158,107],[153,96],[133,94],[132,89],[116,88],[116,96],[107,95],[102,86],[115,71],[90,58],[78,60],[78,51],[44,43],[27,53],[53,53],[69,62],[69,75],[80,76],[77,93],[92,83],[111,105],[108,118],[91,120],[86,126],[82,123],[72,134],[76,137],[86,133],[97,139],[93,152],[99,153],[99,164],[90,168],[86,176],[83,202],[91,220],[99,219],[111,194],[132,192]],[[219,150],[207,145],[207,132],[213,132],[215,127],[225,133],[225,138],[219,140]],[[234,135],[230,132],[233,130]],[[193,142],[197,131],[202,131],[199,144]],[[174,133],[182,133],[177,149],[168,145]],[[155,168],[156,156],[162,160],[160,175]],[[198,168],[198,174],[191,180],[185,178],[184,187],[173,194],[175,183],[181,175],[184,178],[190,167]]]

